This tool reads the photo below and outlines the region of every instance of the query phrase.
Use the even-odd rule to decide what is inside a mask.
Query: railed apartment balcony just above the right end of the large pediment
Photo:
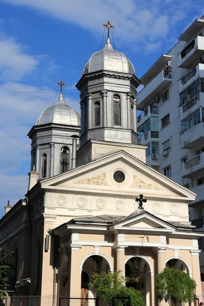
[[[190,178],[202,171],[204,167],[204,152],[196,155],[186,163],[182,163],[182,177]]]

